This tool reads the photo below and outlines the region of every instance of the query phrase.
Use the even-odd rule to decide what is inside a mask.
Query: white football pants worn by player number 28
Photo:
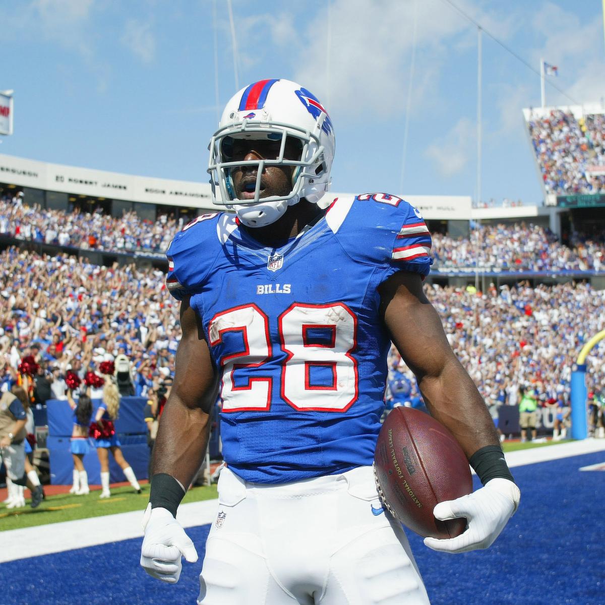
[[[225,468],[218,497],[198,605],[428,604],[370,466],[283,485]]]

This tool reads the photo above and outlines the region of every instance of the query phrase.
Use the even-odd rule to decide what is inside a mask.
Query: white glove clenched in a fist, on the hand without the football
[[[154,578],[176,584],[181,575],[181,556],[189,563],[197,561],[191,538],[165,508],[147,505],[143,515],[141,567]]]

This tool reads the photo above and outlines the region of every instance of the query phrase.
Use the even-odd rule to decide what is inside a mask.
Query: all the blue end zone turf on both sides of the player
[[[601,452],[512,469],[521,507],[487,551],[437,553],[408,532],[431,603],[605,603],[605,473],[578,470],[604,459]],[[139,568],[140,540],[125,540],[0,564],[0,605],[193,605],[208,529],[187,530],[200,560],[183,562],[175,586],[146,575]]]

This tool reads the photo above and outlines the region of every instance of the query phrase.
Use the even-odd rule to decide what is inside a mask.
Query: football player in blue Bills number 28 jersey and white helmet
[[[220,390],[226,468],[198,603],[428,603],[372,462],[391,341],[484,486],[443,502],[466,517],[431,548],[486,548],[519,491],[482,398],[427,301],[431,238],[384,193],[322,200],[335,137],[321,102],[289,80],[238,92],[210,143],[213,201],[168,249],[183,332],[154,451],[141,564],[178,581],[197,560],[177,507],[208,445]],[[326,208],[327,207],[327,208]]]

